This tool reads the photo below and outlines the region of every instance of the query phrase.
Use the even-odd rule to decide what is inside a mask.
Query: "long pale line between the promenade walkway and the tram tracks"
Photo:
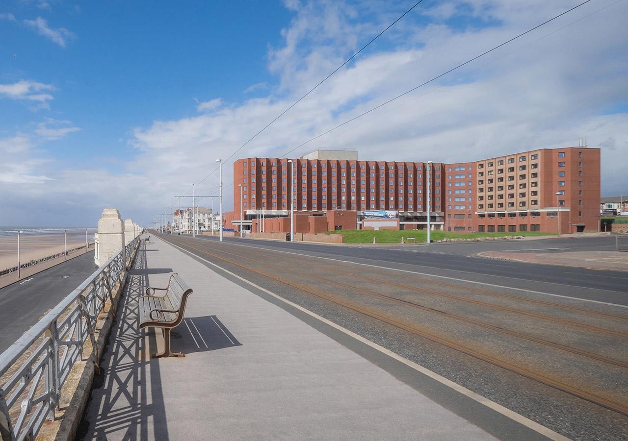
[[[361,343],[366,344],[367,346],[371,346],[371,348],[376,349],[377,351],[381,352],[382,354],[386,354],[387,356],[389,356],[390,358],[396,359],[397,361],[405,364],[406,366],[408,366],[409,368],[413,368],[414,370],[422,373],[425,376],[428,376],[429,378],[431,378],[432,380],[436,380],[439,383],[441,383],[442,385],[448,386],[449,388],[452,388],[453,390],[457,391],[458,393],[468,396],[468,398],[471,398],[474,401],[477,401],[478,403],[487,406],[488,408],[494,410],[495,412],[501,413],[502,415],[504,415],[504,417],[507,418],[511,418],[511,420],[516,421],[517,423],[520,423],[521,425],[524,425],[525,427],[530,428],[531,430],[534,430],[534,432],[538,432],[541,433],[541,435],[544,435],[546,437],[548,437],[551,440],[560,440],[560,441],[569,441],[569,438],[564,437],[563,435],[561,435],[560,433],[554,432],[553,430],[544,427],[543,425],[540,425],[539,423],[534,422],[533,420],[530,420],[529,418],[524,417],[523,415],[519,415],[519,413],[516,413],[512,410],[510,410],[509,408],[506,408],[500,404],[495,403],[495,401],[491,401],[488,398],[485,398],[482,395],[479,395],[478,393],[475,393],[474,391],[468,390],[467,388],[458,385],[458,383],[454,383],[451,380],[448,380],[447,378],[438,375],[437,373],[430,371],[430,369],[427,369],[423,366],[421,366],[418,363],[414,363],[414,361],[410,361],[407,358],[402,357],[401,355],[394,353],[393,351],[384,348],[383,346],[379,346],[379,344],[377,343],[373,343],[371,340],[369,339],[365,339],[364,337],[360,336],[359,334],[355,334],[355,332],[349,331],[349,329],[346,329],[345,327],[342,327],[332,321],[329,321],[328,319],[325,319],[325,317],[319,316],[318,314],[316,314],[315,312],[311,312],[308,309],[305,309],[304,307],[291,302],[290,300],[286,300],[283,297],[274,294],[274,292],[269,291],[268,289],[265,289],[259,285],[254,284],[253,282],[250,282],[249,280],[244,279],[244,277],[241,277],[237,274],[234,274],[232,272],[230,272],[229,270],[221,267],[220,265],[216,265],[214,262],[210,262],[207,259],[204,259],[198,255],[196,255],[193,252],[189,252],[188,250],[185,250],[185,248],[181,248],[178,245],[175,245],[174,243],[171,242],[167,242],[164,241],[166,243],[168,243],[168,245],[171,245],[173,247],[179,248],[181,251],[191,254],[194,257],[199,258],[200,260],[202,260],[203,262],[207,262],[210,265],[212,265],[213,267],[219,268],[220,270],[224,271],[226,274],[232,275],[233,277],[236,277],[236,279],[242,280],[242,282],[251,285],[252,287],[259,289],[263,292],[266,292],[266,294],[268,295],[272,295],[274,298],[280,300],[281,302],[290,305],[291,307],[294,307],[295,309],[298,309],[301,312],[305,312],[305,314],[308,314],[308,316],[313,317],[319,321],[322,321],[323,323],[327,324],[328,326],[331,326],[335,329],[338,329],[338,331],[344,332],[344,334],[347,334],[350,337],[353,337],[354,339],[356,339],[357,341],[360,341]]]

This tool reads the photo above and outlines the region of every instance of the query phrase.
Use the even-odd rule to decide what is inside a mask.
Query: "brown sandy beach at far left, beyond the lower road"
[[[93,233],[88,234],[89,243],[94,243]],[[67,249],[85,245],[84,231],[68,231]],[[63,252],[63,232],[34,233],[19,236],[19,260],[21,263],[48,257]],[[18,236],[0,235],[0,270],[18,264]]]

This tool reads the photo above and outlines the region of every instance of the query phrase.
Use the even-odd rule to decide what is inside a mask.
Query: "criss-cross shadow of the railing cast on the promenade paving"
[[[152,333],[145,338],[138,327],[138,299],[149,286],[149,274],[171,269],[149,269],[145,248],[144,243],[138,248],[129,272],[77,439],[168,440],[159,364],[149,358],[156,342]]]

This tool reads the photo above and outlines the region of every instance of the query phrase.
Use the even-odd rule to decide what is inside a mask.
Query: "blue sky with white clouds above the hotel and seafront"
[[[413,3],[4,1],[0,225],[152,220]],[[577,3],[426,0],[234,159],[281,155]],[[626,3],[593,0],[295,153],[453,162],[587,137],[603,195],[626,193]]]

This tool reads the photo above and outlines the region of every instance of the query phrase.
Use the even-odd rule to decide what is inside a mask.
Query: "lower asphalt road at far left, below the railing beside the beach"
[[[92,251],[0,289],[0,353],[96,268]]]

